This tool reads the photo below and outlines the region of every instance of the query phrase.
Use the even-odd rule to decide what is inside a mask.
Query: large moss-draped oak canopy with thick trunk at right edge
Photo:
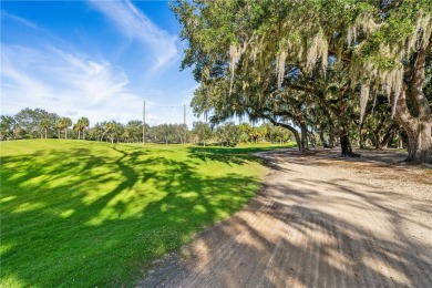
[[[203,94],[241,94],[259,103],[263,93],[256,88],[272,85],[290,97],[292,88],[286,82],[296,75],[287,68],[308,74],[320,66],[326,78],[329,66],[343,63],[349,90],[342,100],[359,103],[358,122],[368,102],[385,94],[408,134],[407,160],[432,162],[432,113],[423,89],[431,6],[428,0],[179,0],[173,10],[188,41],[182,68],[194,65]]]

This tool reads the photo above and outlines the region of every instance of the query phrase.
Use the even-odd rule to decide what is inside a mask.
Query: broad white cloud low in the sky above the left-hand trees
[[[52,47],[2,45],[1,50],[2,114],[28,106],[93,122],[126,122],[141,115],[142,99],[127,91],[127,75],[106,61]]]

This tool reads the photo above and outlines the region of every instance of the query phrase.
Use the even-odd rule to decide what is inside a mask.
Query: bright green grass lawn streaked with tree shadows
[[[128,287],[243,207],[265,168],[239,148],[3,142],[2,287]]]

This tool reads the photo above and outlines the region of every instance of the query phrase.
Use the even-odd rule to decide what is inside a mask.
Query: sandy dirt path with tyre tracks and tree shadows
[[[387,154],[263,156],[259,195],[140,286],[432,287],[431,172]]]

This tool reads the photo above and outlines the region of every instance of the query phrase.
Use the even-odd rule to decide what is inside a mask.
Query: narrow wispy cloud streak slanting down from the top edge
[[[90,3],[94,9],[109,18],[120,29],[122,34],[151,48],[156,60],[153,69],[161,68],[177,56],[177,37],[169,35],[164,30],[157,28],[128,0],[90,0]]]

